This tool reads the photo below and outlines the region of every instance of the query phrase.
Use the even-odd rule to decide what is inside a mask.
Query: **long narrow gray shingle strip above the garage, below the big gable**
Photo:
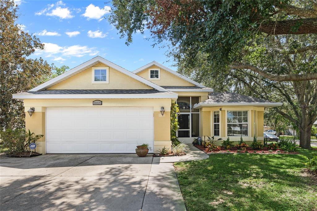
[[[156,89],[52,89],[21,94],[152,94],[166,93]]]

